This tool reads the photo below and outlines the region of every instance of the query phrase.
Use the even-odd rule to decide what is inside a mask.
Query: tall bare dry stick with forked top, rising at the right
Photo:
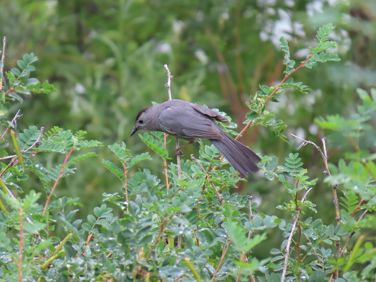
[[[328,176],[331,176],[331,173],[329,171],[329,166],[328,166],[328,156],[327,156],[327,153],[326,153],[326,144],[325,144],[325,137],[321,138],[321,142],[323,143],[323,151],[320,149],[320,147],[318,147],[315,143],[313,143],[312,141],[308,141],[308,140],[305,140],[305,139],[302,139],[294,134],[291,134],[293,135],[294,137],[300,139],[303,141],[302,144],[300,144],[300,146],[298,147],[298,150],[300,148],[302,148],[303,146],[306,146],[307,144],[309,145],[312,145],[314,147],[316,147],[317,151],[320,152],[321,154],[321,157],[323,158],[323,161],[324,161],[324,165],[325,165],[325,171],[324,171],[324,174],[328,175]],[[335,213],[336,213],[336,216],[335,216],[335,220],[337,221],[337,226],[341,224],[341,216],[340,216],[340,206],[339,206],[339,203],[338,203],[338,198],[337,198],[337,188],[338,188],[338,184],[333,184],[332,185],[332,190],[333,190],[333,197],[334,197],[334,206],[335,206]],[[340,255],[340,241],[336,241],[335,243],[335,246],[336,246],[336,254],[337,256]],[[335,270],[335,273],[334,273],[334,279],[337,279],[338,278],[338,270]]]

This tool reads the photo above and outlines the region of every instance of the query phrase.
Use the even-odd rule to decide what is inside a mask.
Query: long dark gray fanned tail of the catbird
[[[261,159],[255,152],[226,133],[222,132],[221,134],[223,139],[210,139],[210,141],[235,170],[244,176],[259,170],[256,163]]]

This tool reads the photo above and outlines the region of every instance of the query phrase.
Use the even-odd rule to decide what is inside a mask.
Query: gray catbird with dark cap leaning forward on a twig
[[[244,176],[258,171],[259,156],[220,130],[213,119],[230,123],[211,109],[179,99],[169,100],[141,110],[130,136],[143,129],[162,131],[188,141],[209,139],[230,165]]]

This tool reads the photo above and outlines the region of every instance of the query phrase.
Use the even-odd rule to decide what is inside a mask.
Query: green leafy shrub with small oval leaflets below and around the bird
[[[320,28],[317,46],[310,49],[312,56],[305,64],[313,66],[315,62],[336,61],[336,55],[322,53],[336,46],[335,42],[328,41],[332,29],[331,24]],[[105,38],[99,38],[112,45]],[[303,95],[309,89],[290,78],[303,65],[294,68],[295,62],[290,59],[284,38],[280,39],[280,45],[284,52],[285,79],[276,86],[260,86],[261,91],[250,97],[251,103],[247,104],[249,112],[245,123],[271,129],[274,136],[285,140],[287,124],[274,120],[275,113],[267,110],[267,101],[277,102],[274,96],[280,95],[281,89],[296,89]],[[29,77],[29,72],[34,70],[30,64],[35,60],[30,54],[17,62],[21,71],[12,69],[14,77],[8,75],[11,88],[20,93],[24,91],[18,86],[27,83],[23,77]],[[15,78],[16,75],[19,77]],[[38,87],[53,89],[43,84]],[[124,142],[109,145],[106,153],[111,151],[122,166],[106,159],[102,164],[120,180],[118,185],[123,188],[121,193],[103,193],[105,203],[80,218],[79,209],[86,206],[77,197],[59,197],[56,192],[59,180],[69,179],[68,176],[77,171],[78,161],[96,156],[88,150],[102,143],[86,140],[83,130],[73,133],[55,126],[41,134],[42,129],[29,126],[16,139],[19,153],[25,158],[24,167],[13,155],[9,158],[12,159],[10,165],[1,165],[1,279],[249,281],[253,275],[259,281],[273,282],[281,279],[329,281],[333,277],[336,281],[373,279],[376,261],[372,240],[361,235],[353,246],[348,244],[358,230],[376,229],[371,214],[376,209],[376,156],[359,146],[362,138],[373,130],[370,121],[376,110],[376,90],[370,92],[371,96],[358,90],[363,105],[358,106],[358,112],[350,121],[340,115],[317,118],[318,125],[343,134],[356,150],[347,152],[338,165],[329,164],[331,174],[326,172],[323,183],[308,176],[310,173],[299,153],[289,153],[284,165],[279,165],[277,156],[262,156],[259,167],[264,171],[263,183],[265,186],[272,180],[277,183],[280,190],[276,194],[281,199],[276,209],[284,213],[284,218],[274,215],[274,206],[261,212],[252,196],[233,192],[244,179],[233,168],[226,170],[218,150],[202,142],[197,159],[209,177],[196,162],[182,159],[179,178],[177,165],[171,162],[166,176],[169,189],[165,179],[159,179],[148,168],[136,170],[141,161],[150,164],[149,153],[134,156]],[[234,129],[236,123],[224,127],[229,134],[234,133]],[[170,159],[163,133],[144,133],[139,137],[162,160]],[[78,154],[79,150],[83,153]],[[41,154],[47,157],[35,160]],[[8,153],[4,150],[3,155]],[[59,162],[61,159],[53,156],[63,156],[64,161]],[[43,193],[24,188],[31,178],[30,171],[42,184],[47,200]],[[338,189],[342,184],[343,192]],[[334,221],[335,211],[332,211],[336,226],[326,224],[320,209],[309,200],[321,186],[332,186],[335,193],[343,194],[340,218]],[[17,190],[17,198],[11,196],[8,187]],[[50,193],[56,193],[58,199],[49,202]],[[289,200],[282,199],[282,195]],[[358,220],[354,214],[360,215]],[[52,233],[58,226],[63,233]],[[279,247],[265,245],[275,234],[279,235]],[[286,250],[290,244],[291,248]],[[346,249],[340,250],[340,247]],[[264,258],[255,255],[260,249]],[[336,270],[340,270],[338,277]]]

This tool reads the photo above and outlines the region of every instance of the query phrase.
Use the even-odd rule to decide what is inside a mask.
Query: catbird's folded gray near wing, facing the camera
[[[179,106],[165,108],[158,116],[161,129],[164,132],[185,139],[222,139],[221,130],[211,118],[192,109]]]

